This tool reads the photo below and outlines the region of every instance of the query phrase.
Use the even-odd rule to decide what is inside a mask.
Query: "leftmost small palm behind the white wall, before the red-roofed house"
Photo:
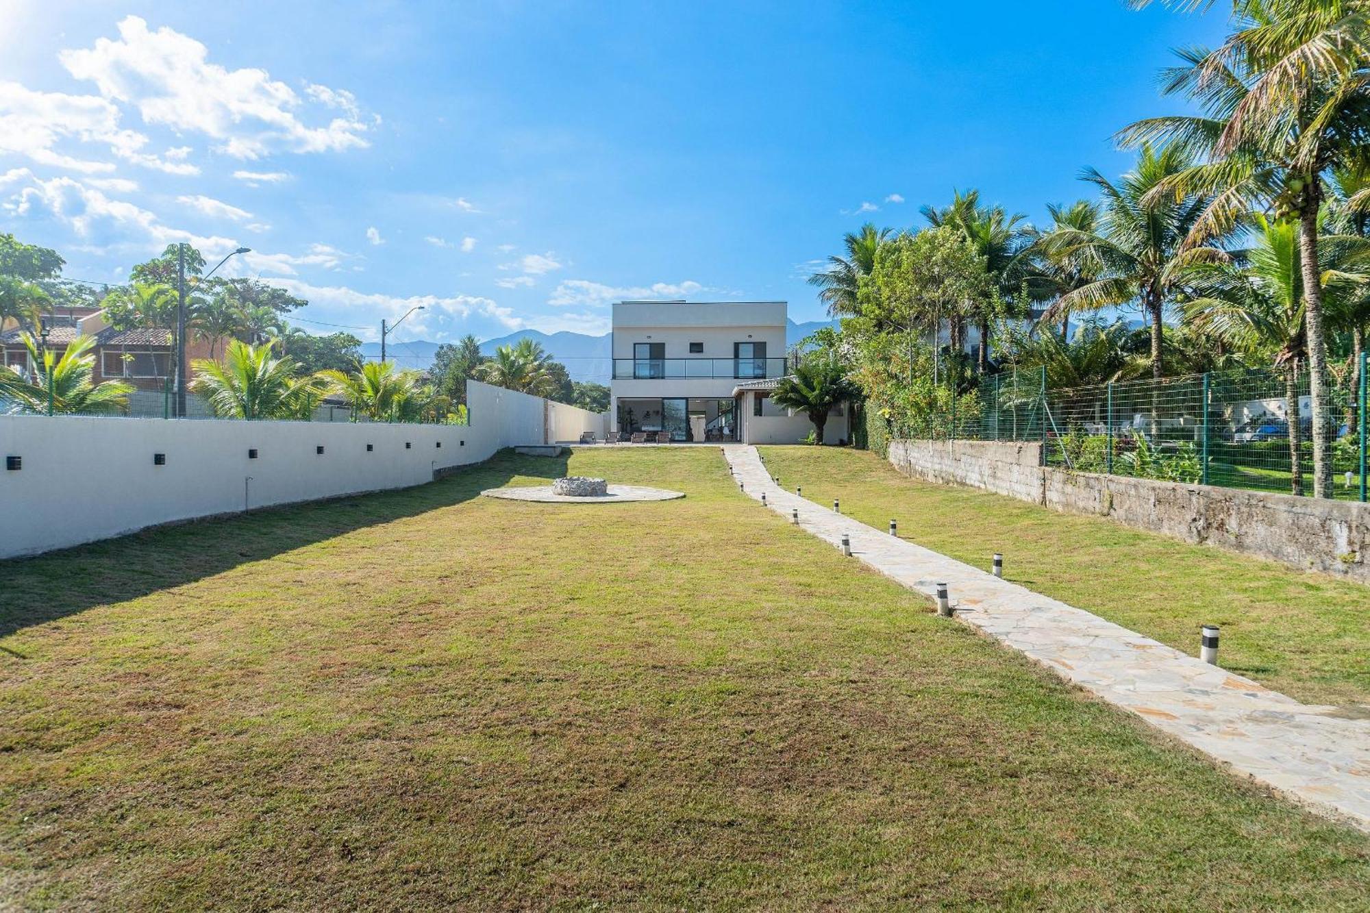
[[[53,350],[40,348],[33,333],[25,333],[23,347],[34,365],[33,380],[26,381],[10,369],[0,372],[0,400],[8,400],[18,411],[34,414],[47,413],[49,402],[52,411],[63,415],[125,411],[134,388],[123,381],[92,382],[95,355],[88,352],[93,345],[93,336],[81,336],[68,343],[59,358]]]

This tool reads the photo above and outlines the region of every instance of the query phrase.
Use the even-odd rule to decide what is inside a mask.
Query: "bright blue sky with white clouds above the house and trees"
[[[601,333],[618,297],[785,299],[866,221],[1032,219],[1177,110],[1219,15],[1037,4],[0,0],[0,230],[122,281],[167,243],[375,339]],[[19,38],[22,36],[22,40]],[[863,211],[864,210],[864,211]]]

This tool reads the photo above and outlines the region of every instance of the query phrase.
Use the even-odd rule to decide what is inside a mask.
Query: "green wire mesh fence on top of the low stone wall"
[[[1330,381],[1333,496],[1366,500],[1366,356]],[[1312,494],[1307,370],[1214,372],[1055,389],[1043,370],[985,377],[978,404],[904,430],[910,437],[1030,440],[1075,472]]]

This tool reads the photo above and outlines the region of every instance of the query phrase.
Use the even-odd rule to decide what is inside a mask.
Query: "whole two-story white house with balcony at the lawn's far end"
[[[612,429],[664,430],[673,441],[799,441],[808,418],[770,402],[788,373],[785,329],[785,302],[615,303]],[[845,421],[829,421],[829,441],[847,436]]]

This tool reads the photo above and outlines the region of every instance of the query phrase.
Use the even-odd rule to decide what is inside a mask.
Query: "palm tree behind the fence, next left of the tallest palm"
[[[1062,295],[1043,319],[1051,322],[1071,311],[1097,311],[1138,302],[1151,324],[1151,374],[1155,380],[1164,373],[1162,325],[1166,307],[1182,288],[1184,270],[1226,256],[1211,247],[1185,247],[1208,207],[1207,196],[1175,199],[1154,192],[1189,166],[1189,159],[1177,147],[1160,152],[1144,147],[1137,166],[1118,184],[1086,169],[1082,180],[1103,195],[1097,226],[1056,226],[1043,241],[1047,256],[1080,258],[1099,265],[1097,278]]]

